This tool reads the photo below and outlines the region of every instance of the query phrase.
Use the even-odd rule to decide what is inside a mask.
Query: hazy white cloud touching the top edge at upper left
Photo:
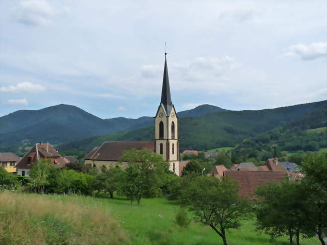
[[[14,18],[24,25],[45,26],[52,23],[55,11],[46,0],[23,0],[16,9]]]

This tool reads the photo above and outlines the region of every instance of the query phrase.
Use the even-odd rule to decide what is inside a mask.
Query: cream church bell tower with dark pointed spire
[[[170,163],[170,170],[179,175],[178,117],[169,87],[167,53],[163,70],[161,101],[155,114],[155,151]]]

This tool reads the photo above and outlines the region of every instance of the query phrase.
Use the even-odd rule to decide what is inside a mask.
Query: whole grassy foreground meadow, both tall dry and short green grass
[[[222,244],[221,238],[209,226],[201,226],[193,221],[188,228],[178,226],[175,217],[179,211],[179,206],[166,199],[142,199],[140,206],[131,206],[130,202],[123,198],[111,200],[63,195],[0,195],[0,243],[3,241],[3,235],[6,236],[8,233],[19,237],[19,234],[22,236],[25,232],[26,236],[32,236],[34,239],[34,242],[30,243],[3,242],[1,244],[51,244],[50,242],[42,243],[47,239],[47,232],[50,240],[59,238],[63,240],[61,236],[69,240],[69,243],[62,244],[102,244],[99,242],[102,240],[107,240],[106,244],[118,242],[119,244],[133,245]],[[7,201],[3,201],[3,197]],[[20,204],[18,205],[17,202]],[[44,202],[44,204],[41,205],[39,202]],[[23,203],[24,208],[20,210]],[[8,205],[12,208],[7,207]],[[7,215],[3,212],[4,208],[16,211]],[[44,217],[50,217],[49,221],[48,218],[45,219]],[[87,217],[90,218],[90,222],[86,222]],[[12,219],[17,221],[11,221]],[[23,221],[21,221],[22,219]],[[7,222],[11,225],[6,226]],[[40,222],[46,225],[44,227],[35,226]],[[75,225],[76,227],[74,227]],[[8,232],[8,229],[13,230]],[[66,229],[69,232],[65,231]],[[40,231],[43,236],[40,238],[40,242],[35,242],[38,238],[36,232]],[[61,235],[56,237],[56,233]],[[81,237],[76,234],[81,235]],[[76,239],[76,242],[73,239]],[[229,245],[289,244],[287,237],[279,237],[276,241],[271,242],[268,235],[257,234],[254,230],[253,220],[244,220],[240,229],[229,230],[227,242]],[[52,244],[57,243],[53,242]],[[302,239],[301,244],[313,245],[319,244],[319,242],[316,238],[310,238]]]

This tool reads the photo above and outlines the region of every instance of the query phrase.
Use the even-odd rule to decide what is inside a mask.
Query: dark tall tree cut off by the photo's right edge
[[[301,166],[305,177],[301,180],[299,203],[304,213],[307,230],[317,234],[321,244],[325,245],[323,232],[327,230],[327,154],[304,157]]]

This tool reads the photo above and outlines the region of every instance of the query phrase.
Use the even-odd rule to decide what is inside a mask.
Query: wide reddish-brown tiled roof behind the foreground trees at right
[[[228,176],[238,181],[238,194],[254,200],[253,194],[258,186],[267,185],[268,182],[279,182],[287,177],[284,171],[225,171],[224,176]]]

